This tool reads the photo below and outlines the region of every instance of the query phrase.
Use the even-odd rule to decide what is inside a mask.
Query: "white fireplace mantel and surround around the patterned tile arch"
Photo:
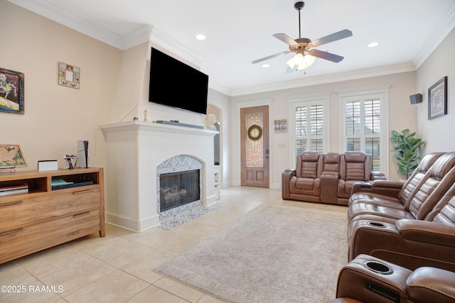
[[[213,137],[218,131],[131,121],[101,126],[106,139],[106,221],[133,231],[159,226],[156,167],[175,155],[203,162],[203,204],[215,203]]]

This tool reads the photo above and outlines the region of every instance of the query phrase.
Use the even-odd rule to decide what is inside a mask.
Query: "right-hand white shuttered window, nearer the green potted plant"
[[[382,94],[344,97],[344,148],[373,155],[373,171],[384,171],[385,123]]]

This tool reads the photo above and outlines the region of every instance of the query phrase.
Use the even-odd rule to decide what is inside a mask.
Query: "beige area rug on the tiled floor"
[[[228,302],[329,302],[346,213],[261,205],[155,268]]]

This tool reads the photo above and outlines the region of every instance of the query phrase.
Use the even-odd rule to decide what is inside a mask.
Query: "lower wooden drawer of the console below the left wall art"
[[[100,211],[16,228],[0,233],[0,263],[100,231]]]

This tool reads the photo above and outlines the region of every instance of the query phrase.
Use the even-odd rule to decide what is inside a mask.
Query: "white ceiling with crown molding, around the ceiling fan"
[[[307,0],[301,36],[316,40],[345,28],[353,36],[316,49],[342,55],[285,73],[291,54],[252,65],[299,38],[296,0],[9,0],[120,49],[152,40],[198,65],[210,87],[231,96],[356,79],[419,67],[455,26],[455,0]],[[203,33],[206,40],[196,40]],[[376,48],[368,48],[378,41]]]

